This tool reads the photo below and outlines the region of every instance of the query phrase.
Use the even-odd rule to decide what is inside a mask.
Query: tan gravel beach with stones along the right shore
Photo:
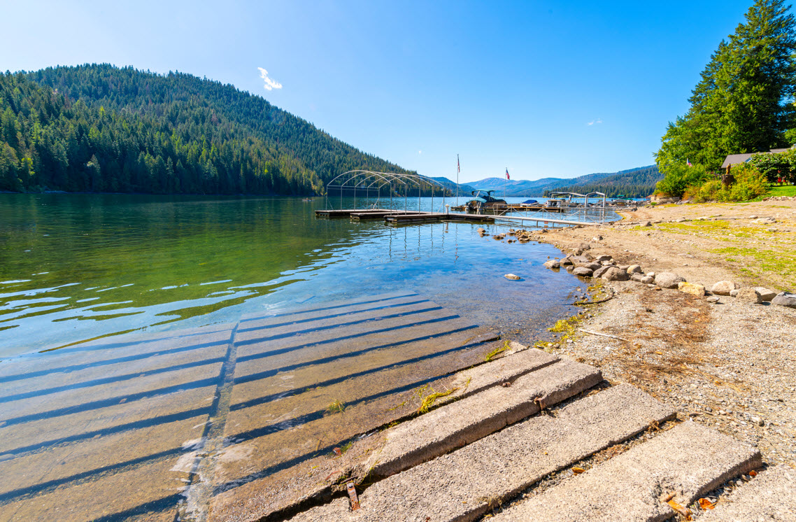
[[[749,442],[767,464],[796,467],[796,294],[778,274],[712,255],[717,240],[734,236],[748,247],[780,243],[789,255],[796,202],[774,203],[782,201],[669,205],[595,228],[509,232],[560,248],[565,255],[545,266],[579,275],[600,301],[580,306],[554,329],[557,341],[540,347],[644,389],[681,420]],[[690,233],[673,228],[681,224]],[[726,233],[691,230],[714,226]]]

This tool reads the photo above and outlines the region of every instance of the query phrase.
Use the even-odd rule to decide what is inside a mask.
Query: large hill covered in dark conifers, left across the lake
[[[350,169],[408,172],[188,74],[109,64],[0,74],[0,190],[309,194]]]

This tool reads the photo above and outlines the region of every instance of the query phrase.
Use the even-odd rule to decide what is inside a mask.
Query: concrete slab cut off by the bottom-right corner
[[[796,520],[796,469],[780,464],[722,499],[708,510],[704,522]]]

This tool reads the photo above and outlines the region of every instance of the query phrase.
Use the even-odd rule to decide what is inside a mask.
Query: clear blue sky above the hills
[[[0,68],[179,70],[430,176],[575,177],[652,164],[750,4],[27,0],[0,6]]]

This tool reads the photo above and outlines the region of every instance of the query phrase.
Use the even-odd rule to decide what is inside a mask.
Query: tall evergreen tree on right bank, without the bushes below
[[[719,169],[727,154],[788,145],[794,125],[794,17],[782,0],[756,0],[744,23],[722,41],[689,98],[669,123],[656,161],[662,173],[686,160]]]

